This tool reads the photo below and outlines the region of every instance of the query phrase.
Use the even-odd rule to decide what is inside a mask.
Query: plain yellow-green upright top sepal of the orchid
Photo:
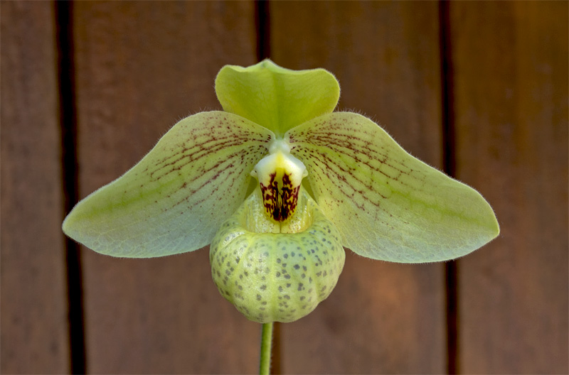
[[[294,126],[330,113],[340,86],[324,69],[289,70],[271,60],[240,67],[225,65],[216,77],[223,109],[283,136]]]

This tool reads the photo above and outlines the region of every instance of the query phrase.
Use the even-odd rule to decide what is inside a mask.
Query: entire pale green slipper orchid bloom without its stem
[[[403,150],[370,119],[333,112],[322,69],[265,60],[216,78],[223,112],[189,116],[75,206],[69,237],[147,258],[210,246],[220,293],[257,322],[291,322],[331,293],[344,246],[402,263],[464,256],[499,234],[476,190]]]

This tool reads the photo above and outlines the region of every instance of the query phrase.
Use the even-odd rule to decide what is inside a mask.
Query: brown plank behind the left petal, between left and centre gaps
[[[255,62],[250,2],[75,4],[80,195],[117,178],[176,121],[219,107],[216,73]],[[208,249],[115,259],[83,249],[87,371],[257,371],[260,325],[221,297]]]

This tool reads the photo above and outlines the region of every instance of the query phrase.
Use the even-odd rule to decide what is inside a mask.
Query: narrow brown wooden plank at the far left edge
[[[1,4],[3,374],[70,369],[53,3]]]

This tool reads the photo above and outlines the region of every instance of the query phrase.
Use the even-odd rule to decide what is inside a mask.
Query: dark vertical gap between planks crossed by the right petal
[[[454,71],[450,36],[449,1],[439,1],[440,77],[442,89],[442,163],[445,173],[456,175],[454,136]],[[445,263],[447,312],[447,373],[457,374],[458,361],[458,284],[457,262]]]

